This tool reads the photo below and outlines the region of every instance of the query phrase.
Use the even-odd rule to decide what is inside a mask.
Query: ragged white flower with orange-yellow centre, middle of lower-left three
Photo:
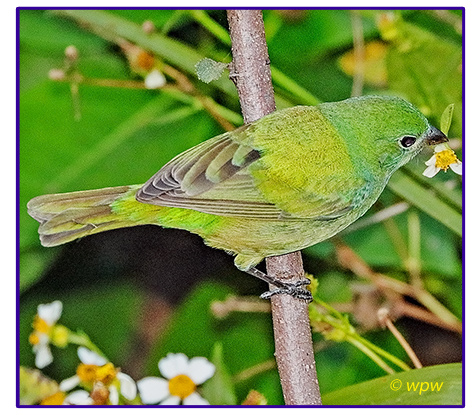
[[[107,401],[111,405],[118,405],[120,395],[129,401],[135,399],[137,385],[130,376],[120,372],[104,357],[85,347],[79,347],[77,355],[82,363],[77,367],[76,375],[64,379],[60,383],[59,389],[61,391],[70,391],[78,385],[84,386],[91,392],[100,391],[100,393],[92,393],[92,395],[100,397],[105,395],[104,402],[94,400],[91,393],[87,392],[96,405],[104,405]],[[81,394],[78,399],[82,399],[83,396]],[[75,404],[77,405],[77,403]]]

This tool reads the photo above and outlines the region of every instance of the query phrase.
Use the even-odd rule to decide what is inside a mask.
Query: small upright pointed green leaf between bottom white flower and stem
[[[202,386],[202,394],[211,405],[236,405],[237,396],[229,371],[224,363],[222,343],[216,343],[211,354],[216,373]]]

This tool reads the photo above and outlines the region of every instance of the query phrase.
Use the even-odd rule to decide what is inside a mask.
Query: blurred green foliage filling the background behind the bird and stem
[[[444,12],[264,11],[278,106],[350,96],[354,72],[341,64],[341,58],[352,53],[352,22],[354,18],[361,19],[365,42],[380,42],[382,57],[374,59],[379,68],[384,68],[377,75],[377,85],[365,83],[363,93],[405,97],[437,126],[444,108],[454,103],[450,137],[458,139],[454,144],[458,144],[455,149],[461,154],[462,12]],[[87,289],[66,284],[60,298],[44,291],[36,293],[35,284],[41,281],[61,248],[46,249],[39,245],[38,224],[27,215],[26,203],[44,193],[142,183],[174,155],[222,132],[219,121],[236,124],[239,105],[232,82],[224,76],[206,85],[194,73],[201,58],[230,61],[225,30],[224,34],[221,32],[226,28],[225,12],[18,13],[19,245],[23,296],[20,361],[33,365],[27,338],[36,306],[60,299],[65,309],[63,323],[83,329],[114,363],[121,365],[127,356],[122,346],[133,342],[146,294],[133,284],[121,283],[92,285]],[[154,34],[142,30],[145,20],[156,26]],[[195,91],[189,94],[179,86],[173,87],[176,84],[169,73],[171,87],[144,89],[117,46],[123,39],[179,70]],[[78,83],[55,82],[49,79],[48,72],[64,67],[64,50],[69,45],[79,51],[75,70],[82,78]],[[113,80],[114,86],[104,86],[100,80]],[[130,80],[136,82],[127,84]],[[120,82],[124,84],[121,86]],[[202,97],[211,99],[213,114],[206,109]],[[449,172],[426,180],[421,173],[423,161],[429,157],[430,154],[424,154],[399,172],[367,216],[403,200],[413,207],[387,222],[348,229],[340,238],[373,269],[401,281],[410,283],[409,264],[415,261],[425,287],[447,310],[461,318],[461,178]],[[419,218],[415,228],[409,224],[410,214]],[[306,270],[318,277],[318,292],[326,302],[348,304],[353,296],[353,282],[369,284],[340,266],[331,241],[308,248],[305,257]],[[67,276],[64,278],[67,280]],[[256,389],[269,404],[282,404],[276,369],[232,384],[238,373],[272,359],[273,339],[267,314],[234,313],[217,320],[210,313],[210,303],[229,294],[235,294],[234,290],[220,283],[203,283],[191,292],[178,306],[165,334],[151,348],[144,375],[157,375],[157,361],[168,352],[207,356],[219,370],[219,377],[213,382],[223,392],[214,395],[216,402],[239,403],[250,389]],[[367,337],[408,361],[389,333],[374,330]],[[315,334],[315,340],[320,341],[321,336]],[[128,353],[133,353],[131,350]],[[53,352],[55,362],[46,369],[47,374],[57,380],[71,376],[76,364],[75,351]],[[345,343],[323,343],[316,361],[323,393],[384,374],[360,351]],[[336,398],[331,402],[350,403]],[[446,402],[439,402],[443,403]]]

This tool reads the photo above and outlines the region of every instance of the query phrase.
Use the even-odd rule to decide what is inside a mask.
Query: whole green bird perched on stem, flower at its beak
[[[297,106],[190,148],[143,185],[39,196],[28,212],[44,246],[153,224],[196,233],[262,277],[255,266],[265,257],[342,231],[398,168],[446,141],[401,98]],[[276,285],[288,292],[288,284]]]

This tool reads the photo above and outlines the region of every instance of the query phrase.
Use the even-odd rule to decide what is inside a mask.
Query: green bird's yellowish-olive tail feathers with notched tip
[[[43,246],[61,245],[86,235],[137,225],[114,210],[113,203],[126,198],[134,203],[139,188],[120,186],[38,196],[28,202],[28,213],[40,223]]]

